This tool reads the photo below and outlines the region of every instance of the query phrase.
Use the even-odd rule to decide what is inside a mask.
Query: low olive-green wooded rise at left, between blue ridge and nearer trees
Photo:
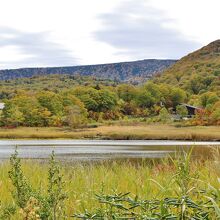
[[[100,79],[91,76],[51,74],[32,76],[30,78],[18,78],[11,80],[0,80],[0,100],[12,96],[19,90],[42,91],[49,90],[58,92],[71,89],[76,86],[116,86],[118,81],[111,79]]]

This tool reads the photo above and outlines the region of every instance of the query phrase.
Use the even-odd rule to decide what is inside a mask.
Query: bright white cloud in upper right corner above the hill
[[[149,0],[174,19],[173,27],[202,44],[220,38],[219,0]]]

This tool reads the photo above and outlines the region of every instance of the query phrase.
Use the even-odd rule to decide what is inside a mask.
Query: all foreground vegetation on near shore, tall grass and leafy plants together
[[[134,164],[49,164],[12,155],[0,167],[1,219],[219,219],[220,155]],[[10,181],[9,181],[10,178]]]

